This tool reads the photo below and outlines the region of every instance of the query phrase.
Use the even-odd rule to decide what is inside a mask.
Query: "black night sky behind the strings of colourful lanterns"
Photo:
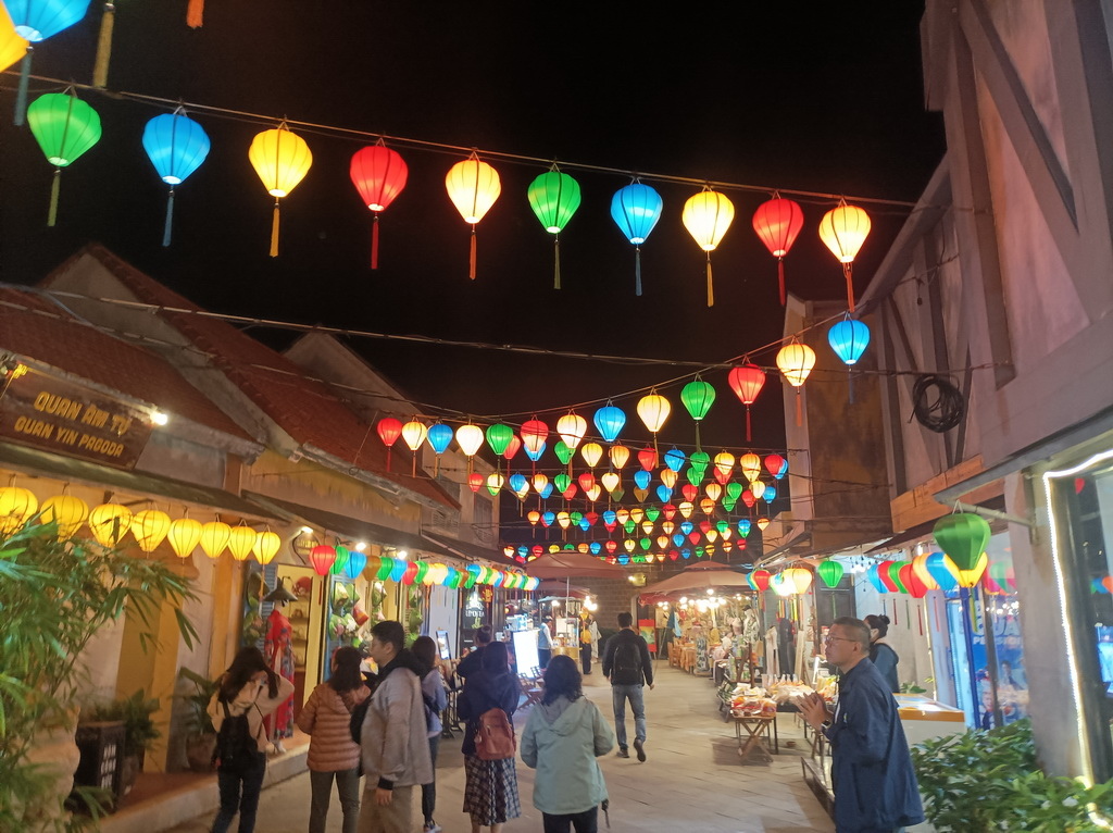
[[[205,26],[185,0],[118,0],[109,89],[288,117],[392,137],[720,182],[915,200],[943,154],[942,119],[923,105],[923,3],[445,3],[377,0],[208,0]],[[101,3],[36,49],[36,75],[91,78]],[[370,139],[295,130],[314,166],[283,200],[282,254],[267,256],[272,198],[247,161],[274,121],[191,111],[213,140],[177,190],[174,243],[162,248],[166,186],[147,160],[142,125],[165,110],[102,94],[81,97],[104,138],[62,174],[58,226],[47,228],[52,168],[27,128],[11,126],[16,76],[0,125],[2,280],[35,283],[99,242],[210,310],[470,342],[720,362],[779,337],[776,263],[750,228],[767,195],[729,190],[737,216],[712,254],[717,303],[705,305],[705,256],[680,225],[691,185],[653,183],[664,216],[633,247],[608,207],[629,176],[581,173],[583,204],[552,243],[525,200],[544,169],[490,159],[499,203],[479,225],[479,276],[467,278],[469,227],[444,192],[463,154],[390,141],[410,183],[382,215],[381,268],[367,268],[370,213],[348,175]],[[32,84],[36,95],[52,91]],[[805,229],[786,261],[789,290],[844,297],[841,271],[816,226],[831,202],[804,202]],[[874,232],[856,265],[860,292],[904,222],[863,204]],[[292,337],[264,329],[283,346]],[[540,359],[354,340],[352,345],[430,408],[555,422],[568,405],[620,394],[684,370]],[[756,356],[772,364],[772,352]],[[743,445],[742,410],[721,371],[708,445]],[[679,386],[666,442],[691,442]],[[554,410],[550,410],[554,409]],[[589,416],[594,405],[583,409]],[[548,413],[546,413],[548,411]],[[430,410],[430,412],[433,412]],[[755,445],[782,448],[775,380],[755,408]],[[636,448],[646,439],[628,428]],[[663,451],[663,449],[662,449]],[[713,453],[713,450],[712,450]]]

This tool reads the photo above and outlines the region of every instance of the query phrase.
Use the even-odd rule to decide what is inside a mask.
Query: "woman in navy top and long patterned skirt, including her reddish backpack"
[[[461,751],[464,753],[464,812],[472,833],[502,825],[522,814],[514,768],[514,725],[521,686],[511,675],[504,643],[483,649],[480,669],[467,676],[456,700],[456,714],[467,722]]]

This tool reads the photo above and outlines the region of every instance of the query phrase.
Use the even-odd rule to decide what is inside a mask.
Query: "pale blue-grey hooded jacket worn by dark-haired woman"
[[[614,748],[614,731],[587,697],[534,706],[521,747],[522,761],[538,771],[533,806],[542,813],[582,813],[607,798],[595,758]]]

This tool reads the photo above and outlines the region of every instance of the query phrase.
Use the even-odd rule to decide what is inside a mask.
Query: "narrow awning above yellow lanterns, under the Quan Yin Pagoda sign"
[[[276,518],[274,512],[268,509],[224,489],[188,483],[184,480],[175,480],[146,471],[114,469],[88,460],[52,454],[49,451],[26,445],[0,443],[0,467],[109,491],[118,489],[131,494],[179,500],[183,503],[244,518],[257,520],[274,520]]]

